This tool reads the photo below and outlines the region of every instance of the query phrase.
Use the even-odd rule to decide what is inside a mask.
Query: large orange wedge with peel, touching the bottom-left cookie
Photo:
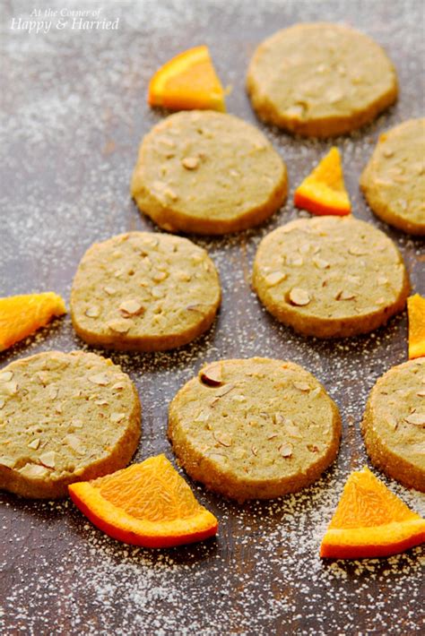
[[[134,546],[179,546],[217,533],[215,517],[164,455],[68,487],[91,523]]]

